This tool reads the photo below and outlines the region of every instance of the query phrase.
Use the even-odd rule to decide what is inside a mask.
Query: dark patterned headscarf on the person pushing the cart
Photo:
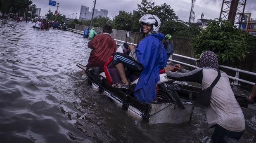
[[[199,68],[216,68],[218,70],[218,58],[212,51],[206,51],[201,54]]]

